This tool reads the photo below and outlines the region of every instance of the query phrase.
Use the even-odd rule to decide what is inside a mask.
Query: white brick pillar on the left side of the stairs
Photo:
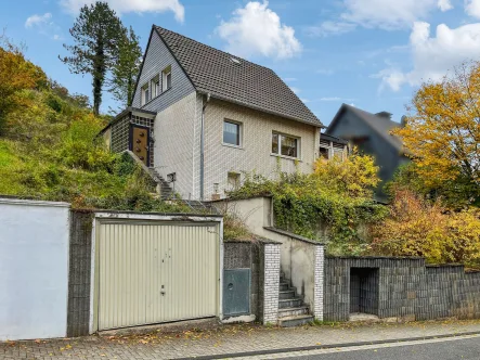
[[[278,320],[280,244],[263,247],[263,324],[276,324]]]

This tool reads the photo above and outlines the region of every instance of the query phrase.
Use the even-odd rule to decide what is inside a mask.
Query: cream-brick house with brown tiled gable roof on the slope
[[[321,121],[271,69],[153,26],[131,107],[103,134],[183,197],[224,197],[243,172],[311,172]]]

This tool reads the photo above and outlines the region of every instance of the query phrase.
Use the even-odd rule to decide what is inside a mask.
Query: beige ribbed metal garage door
[[[218,316],[218,224],[102,222],[99,330]]]

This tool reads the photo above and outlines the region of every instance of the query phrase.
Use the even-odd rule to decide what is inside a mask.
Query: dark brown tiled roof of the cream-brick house
[[[320,119],[270,68],[159,26],[154,28],[198,92],[323,127]]]

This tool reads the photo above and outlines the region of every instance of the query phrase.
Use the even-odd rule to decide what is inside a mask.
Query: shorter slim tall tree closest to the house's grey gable
[[[125,29],[118,46],[118,57],[112,70],[109,91],[115,100],[125,106],[131,104],[137,76],[142,63],[140,38],[130,29]]]

